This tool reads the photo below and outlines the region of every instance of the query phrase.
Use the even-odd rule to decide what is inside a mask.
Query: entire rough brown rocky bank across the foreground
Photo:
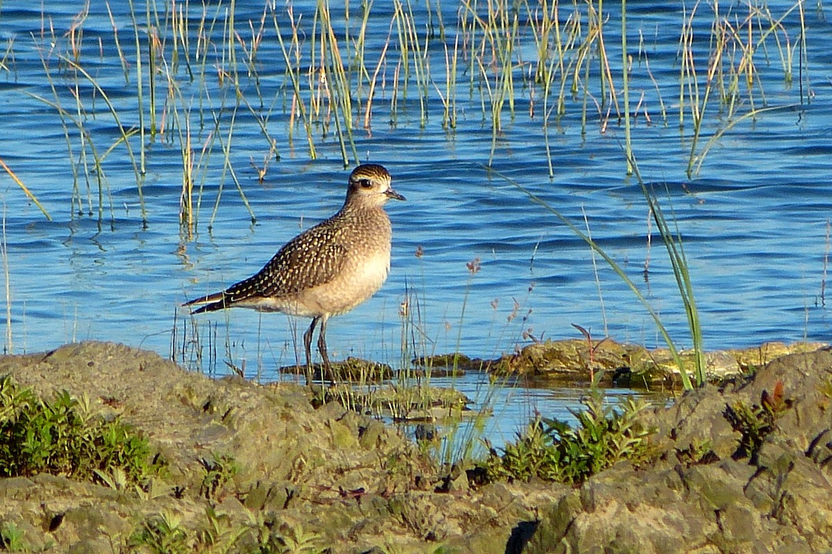
[[[828,349],[787,355],[646,414],[656,429],[651,459],[619,463],[578,488],[475,489],[379,421],[334,403],[314,409],[302,387],[213,381],[121,345],[4,356],[7,374],[41,395],[86,398],[92,412],[139,429],[166,460],[141,488],[0,479],[0,530],[12,526],[32,551],[161,552],[139,539],[171,524],[168,552],[832,548]],[[763,414],[759,444],[737,415],[744,406]],[[206,488],[206,467],[228,460],[235,471]]]

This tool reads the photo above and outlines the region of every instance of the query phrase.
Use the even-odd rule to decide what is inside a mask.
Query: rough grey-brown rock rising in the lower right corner
[[[568,493],[525,552],[832,552],[830,401],[828,348],[682,395],[650,417],[656,460],[621,463]],[[755,455],[727,417],[738,403],[774,407]]]

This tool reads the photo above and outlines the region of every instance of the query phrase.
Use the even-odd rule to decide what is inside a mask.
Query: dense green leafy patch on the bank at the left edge
[[[43,400],[0,377],[0,476],[45,472],[104,483],[102,475],[119,473],[136,483],[149,453],[147,439],[117,418],[91,414],[86,400],[66,390]]]

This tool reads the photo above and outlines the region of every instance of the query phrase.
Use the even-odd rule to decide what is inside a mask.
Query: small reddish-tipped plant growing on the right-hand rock
[[[763,391],[760,404],[749,406],[738,400],[734,405],[726,405],[723,414],[731,428],[741,435],[740,444],[731,457],[735,460],[750,458],[749,462],[756,464],[765,438],[775,430],[775,419],[790,405],[790,400],[784,397],[782,381],[777,381],[774,394]]]

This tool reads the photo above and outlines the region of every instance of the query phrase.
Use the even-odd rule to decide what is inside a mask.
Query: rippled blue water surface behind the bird
[[[112,18],[106,5],[99,5],[103,2],[92,3],[83,18],[78,14],[84,2],[48,8],[37,2],[4,3],[0,9],[0,46],[7,52],[0,65],[0,158],[52,215],[47,221],[7,173],[0,173],[11,300],[10,323],[3,326],[11,330],[6,348],[40,351],[64,341],[97,339],[170,355],[171,344],[176,344],[176,351],[188,351],[186,361],[191,363],[193,350],[182,346],[192,338],[191,321],[183,314],[175,319],[176,306],[248,277],[286,240],[334,213],[343,202],[349,169],[344,169],[334,124],[324,129],[321,120],[314,123],[318,157],[312,160],[303,125],[297,115],[294,122],[290,116],[291,84],[274,24],[276,17],[281,29],[289,28],[285,6],[278,2],[273,16],[270,4],[238,1],[234,21],[239,37],[234,44],[239,95],[223,74],[230,62],[220,30],[215,30],[204,66],[191,58],[193,81],[181,59],[176,69],[161,66],[156,74],[156,125],[164,133],[144,138],[144,223],[131,159],[118,144],[119,123],[125,129],[139,125],[134,22],[126,5],[121,6],[124,2],[111,2]],[[614,116],[602,121],[609,108],[608,102],[601,105],[596,53],[591,55],[586,126],[581,94],[567,94],[562,117],[548,115],[550,178],[542,134],[547,117],[543,93],[539,86],[522,85],[535,56],[533,39],[525,36],[515,53],[514,111],[508,103],[503,108],[492,171],[488,91],[498,82],[489,72],[492,68],[481,70],[489,76],[488,86],[460,69],[456,126],[443,126],[438,100],[447,90],[443,44],[453,51],[458,6],[442,2],[448,35],[444,43],[438,33],[428,42],[433,80],[423,120],[413,81],[409,96],[394,99],[394,93],[404,95],[394,86],[401,52],[391,27],[394,14],[383,3],[375,2],[367,27],[367,66],[379,67],[372,126],[364,130],[363,105],[356,107],[354,143],[360,159],[388,167],[394,187],[407,202],[389,203],[394,247],[388,282],[369,302],[330,322],[330,354],[399,364],[399,312],[408,295],[410,313],[418,313],[418,346],[428,353],[460,350],[492,357],[533,339],[576,337],[572,323],[591,329],[594,336],[662,346],[655,324],[621,279],[602,259],[593,260],[586,243],[517,184],[588,228],[626,267],[674,340],[690,346],[666,252],[649,223],[636,179],[626,176],[623,125]],[[414,21],[423,36],[424,2],[413,3],[419,4],[413,7]],[[314,5],[294,2],[295,17],[311,25]],[[163,2],[157,7],[163,19]],[[767,42],[767,61],[755,58],[753,106],[745,82],[732,117],[720,108],[721,91],[713,91],[697,151],[717,132],[721,135],[699,173],[689,178],[693,127],[690,105],[680,120],[679,38],[691,7],[666,2],[630,8],[631,105],[639,105],[633,108],[632,148],[642,177],[659,191],[666,214],[683,237],[706,347],[826,341],[830,318],[823,283],[832,208],[829,14],[824,7],[805,13],[805,66],[798,71],[799,13],[792,4],[769,3],[774,17],[783,17],[781,38],[788,38],[784,47],[793,52],[793,80],[785,82],[780,54],[774,42]],[[221,19],[225,8],[224,2],[216,2],[206,9],[211,18]],[[136,9],[146,81],[147,17],[144,5]],[[537,7],[530,2],[529,9]],[[698,9],[705,12],[706,6]],[[736,3],[730,9],[724,20],[741,25],[756,7]],[[562,7],[564,25],[572,10]],[[333,7],[333,18],[343,25],[343,12],[335,12]],[[519,17],[521,29],[529,13]],[[255,75],[242,61],[244,45],[250,47],[264,17]],[[436,25],[436,14],[432,17]],[[612,22],[618,17],[612,12]],[[204,18],[201,8],[195,8],[188,17],[191,28]],[[357,25],[361,18],[354,13],[349,21]],[[702,91],[712,21],[712,16],[696,20],[691,46],[701,64],[697,76]],[[620,83],[620,27],[616,23],[606,28],[611,71]],[[166,41],[165,61],[172,64],[171,28],[160,25],[154,33]],[[288,31],[284,36],[289,39]],[[72,37],[81,41],[77,58],[68,46]],[[312,37],[302,39],[309,42]],[[387,57],[379,64],[385,42]],[[735,52],[735,62],[739,56]],[[76,59],[90,78],[79,76],[71,63]],[[461,67],[466,64],[460,61]],[[166,71],[174,71],[172,80]],[[559,90],[560,82],[555,88]],[[146,82],[143,92],[149,132]],[[174,96],[178,103],[170,102]],[[777,109],[740,119],[752,107]],[[179,219],[182,152],[187,150],[180,129],[191,134],[196,186],[202,189],[192,236]],[[275,140],[279,161],[270,154],[266,136]],[[138,159],[141,138],[131,135],[130,142]],[[227,163],[225,145],[230,145]],[[103,157],[102,171],[93,164],[94,155]],[[271,162],[260,182],[255,166],[262,168],[264,159]],[[479,271],[469,271],[467,264],[477,259]],[[205,357],[210,357],[209,348],[217,352],[217,370],[224,370],[222,360],[227,359],[266,379],[275,367],[295,362],[292,337],[307,325],[245,310],[215,315],[210,330],[208,321],[195,323]],[[178,331],[172,336],[175,323]]]

